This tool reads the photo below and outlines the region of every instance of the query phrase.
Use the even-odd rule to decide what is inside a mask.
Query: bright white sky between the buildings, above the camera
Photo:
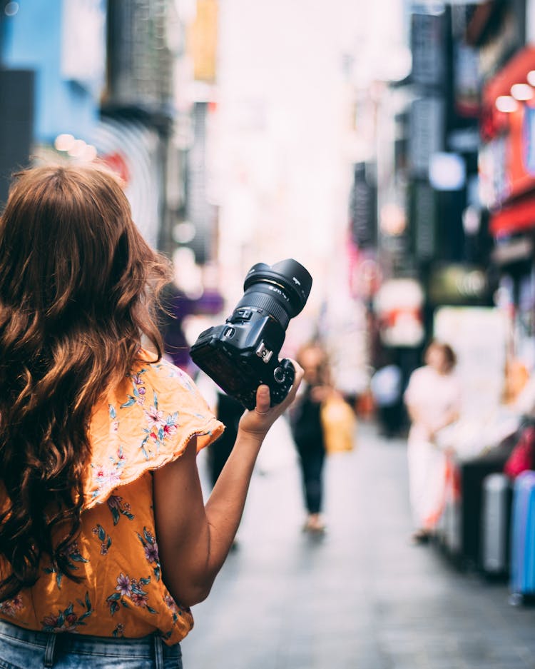
[[[347,225],[351,87],[385,76],[402,0],[223,0],[218,174],[222,252],[330,272]],[[238,255],[237,252],[240,251]],[[251,262],[252,261],[252,262]]]

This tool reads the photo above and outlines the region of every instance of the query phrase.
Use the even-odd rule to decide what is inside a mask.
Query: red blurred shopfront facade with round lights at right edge
[[[494,240],[490,266],[496,302],[509,313],[511,352],[533,358],[535,166],[534,4],[530,0],[476,7],[467,41],[482,69],[479,149],[481,204]]]

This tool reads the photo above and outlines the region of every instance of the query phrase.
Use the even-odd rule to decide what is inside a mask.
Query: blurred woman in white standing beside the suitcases
[[[433,341],[424,356],[426,366],[409,379],[404,400],[411,420],[409,431],[409,492],[416,531],[415,543],[425,543],[444,505],[446,456],[437,446],[437,435],[457,421],[460,386],[454,375],[452,348]]]

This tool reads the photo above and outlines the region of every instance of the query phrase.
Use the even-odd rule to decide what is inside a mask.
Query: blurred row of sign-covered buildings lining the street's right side
[[[496,373],[507,357],[535,361],[534,11],[407,5],[409,71],[355,86],[368,150],[348,202],[350,283],[368,304],[373,366],[393,352],[408,374],[444,308],[501,314]]]

